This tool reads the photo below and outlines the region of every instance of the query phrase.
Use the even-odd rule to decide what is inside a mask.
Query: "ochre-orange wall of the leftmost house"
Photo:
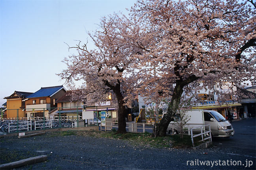
[[[23,109],[21,109],[21,103],[22,103],[22,99],[18,98],[18,99],[7,99],[7,118],[16,118],[17,117],[17,111],[18,111],[18,115],[20,118],[25,117],[25,113],[23,111]],[[11,109],[15,109],[15,110],[11,110]],[[18,110],[17,110],[18,109]]]

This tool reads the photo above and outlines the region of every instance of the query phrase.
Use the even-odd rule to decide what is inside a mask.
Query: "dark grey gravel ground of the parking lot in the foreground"
[[[3,137],[0,141],[1,164],[13,161],[10,157],[48,157],[47,162],[16,169],[256,169],[255,148],[250,153],[216,145],[203,150],[156,149],[133,146],[126,140],[63,136],[60,132],[23,139]],[[205,165],[198,165],[201,161]]]

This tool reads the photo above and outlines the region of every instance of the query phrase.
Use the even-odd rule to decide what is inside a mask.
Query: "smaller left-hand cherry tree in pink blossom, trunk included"
[[[126,133],[126,107],[131,106],[130,101],[136,95],[137,80],[133,66],[137,58],[134,54],[142,50],[127,42],[136,38],[138,30],[122,15],[103,17],[99,29],[95,33],[88,33],[96,47],[90,50],[88,43],[81,44],[81,41],[77,46],[70,47],[77,49],[78,55],[65,58],[67,69],[58,74],[73,89],[77,80],[84,82],[74,96],[83,98],[87,104],[105,100],[108,92],[115,94],[118,105],[117,133]]]

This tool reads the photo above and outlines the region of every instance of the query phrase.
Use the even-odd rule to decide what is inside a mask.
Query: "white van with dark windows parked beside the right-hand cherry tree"
[[[200,126],[198,124],[210,124],[211,126],[211,135],[213,137],[230,137],[233,136],[235,131],[228,122],[220,113],[212,110],[191,110],[187,111],[186,114],[190,116],[190,121],[187,124],[190,125],[190,128]],[[172,133],[172,126],[175,122],[170,122],[167,133]],[[206,126],[207,129],[207,126]],[[173,133],[179,134],[179,128],[177,125],[173,127]],[[207,129],[208,130],[208,129]]]

